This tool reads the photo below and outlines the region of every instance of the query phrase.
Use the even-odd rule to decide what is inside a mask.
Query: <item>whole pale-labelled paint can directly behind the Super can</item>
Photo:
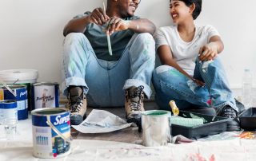
[[[57,108],[58,102],[58,83],[35,83],[32,84],[31,96],[32,96],[32,108]]]

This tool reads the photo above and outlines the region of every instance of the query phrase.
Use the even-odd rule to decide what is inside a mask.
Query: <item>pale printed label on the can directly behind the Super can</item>
[[[54,85],[41,85],[34,87],[34,108],[55,108]]]

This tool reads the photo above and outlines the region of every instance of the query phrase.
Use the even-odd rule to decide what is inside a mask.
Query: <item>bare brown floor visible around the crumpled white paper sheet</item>
[[[146,110],[157,109],[157,105],[152,100],[147,100],[144,102],[144,107]],[[93,108],[88,107],[86,115],[88,115]],[[123,107],[120,108],[96,108],[106,110],[113,113],[116,116],[121,117],[125,120],[126,114]],[[82,134],[76,130],[71,130],[71,135],[73,139],[96,139],[96,140],[108,140],[108,141],[118,141],[125,143],[137,143],[138,140],[142,139],[142,132],[138,132],[137,127],[125,128],[116,132],[102,133],[102,134]]]

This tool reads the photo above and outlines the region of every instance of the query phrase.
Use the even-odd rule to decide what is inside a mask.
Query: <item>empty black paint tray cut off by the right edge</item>
[[[256,108],[248,108],[239,115],[240,126],[246,131],[256,130]]]

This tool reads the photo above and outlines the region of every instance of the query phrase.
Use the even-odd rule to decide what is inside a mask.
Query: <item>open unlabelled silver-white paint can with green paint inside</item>
[[[142,144],[146,147],[164,146],[170,142],[170,116],[164,110],[142,112]]]

